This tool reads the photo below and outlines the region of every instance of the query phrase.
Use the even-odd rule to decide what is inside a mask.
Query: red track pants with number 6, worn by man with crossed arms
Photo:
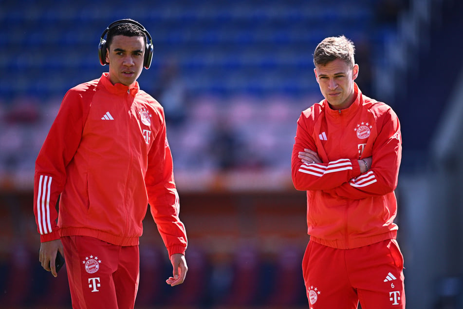
[[[302,261],[311,309],[405,309],[403,268],[395,240],[347,250],[309,241]]]

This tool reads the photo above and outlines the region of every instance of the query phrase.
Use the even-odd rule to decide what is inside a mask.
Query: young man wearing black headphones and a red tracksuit
[[[66,93],[37,156],[39,260],[56,277],[57,253],[64,255],[73,308],[134,307],[148,203],[173,267],[166,282],[185,280],[187,239],[164,111],[137,82],[152,54],[140,23],[111,23],[98,46],[109,73]]]

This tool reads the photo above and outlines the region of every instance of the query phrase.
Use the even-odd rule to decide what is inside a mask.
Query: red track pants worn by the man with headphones
[[[87,236],[61,237],[74,309],[133,309],[138,290],[138,246],[121,247]]]

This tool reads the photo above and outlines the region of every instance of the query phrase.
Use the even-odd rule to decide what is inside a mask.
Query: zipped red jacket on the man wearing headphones
[[[36,160],[41,242],[83,235],[138,245],[148,202],[169,256],[185,253],[162,106],[108,73],[70,89]]]

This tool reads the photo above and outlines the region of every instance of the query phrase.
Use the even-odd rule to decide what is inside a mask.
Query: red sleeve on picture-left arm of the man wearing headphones
[[[34,214],[40,241],[59,238],[56,201],[66,183],[66,167],[82,137],[88,110],[82,96],[71,89],[63,98],[58,114],[36,159]]]

